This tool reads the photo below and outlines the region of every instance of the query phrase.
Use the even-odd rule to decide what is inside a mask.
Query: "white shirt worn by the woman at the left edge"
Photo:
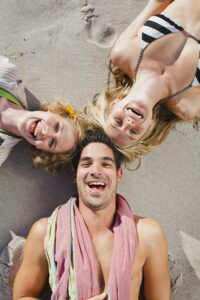
[[[12,64],[7,57],[0,55],[0,88],[7,90],[17,97],[28,109],[26,95],[22,80],[20,79],[17,67]],[[10,154],[12,148],[21,139],[0,133],[0,166]]]

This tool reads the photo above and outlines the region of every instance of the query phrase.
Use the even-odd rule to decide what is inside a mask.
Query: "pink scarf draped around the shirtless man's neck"
[[[136,247],[136,228],[131,209],[120,195],[117,195],[117,207],[113,225],[114,249],[107,295],[111,300],[129,300],[131,270]],[[73,251],[78,300],[86,300],[100,294],[91,238],[76,206],[76,199],[71,199],[58,211],[55,242],[57,287],[52,294],[52,300],[69,299],[68,278],[71,251]]]

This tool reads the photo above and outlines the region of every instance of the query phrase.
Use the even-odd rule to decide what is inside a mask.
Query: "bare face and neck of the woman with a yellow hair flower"
[[[22,137],[36,148],[64,153],[78,141],[72,121],[49,111],[28,111],[1,97],[0,128]]]

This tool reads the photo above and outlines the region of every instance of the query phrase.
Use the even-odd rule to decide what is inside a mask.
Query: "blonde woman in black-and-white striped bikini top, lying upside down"
[[[198,0],[149,0],[111,52],[126,77],[116,77],[115,88],[96,97],[92,113],[130,159],[161,143],[175,123],[198,119],[198,7]]]

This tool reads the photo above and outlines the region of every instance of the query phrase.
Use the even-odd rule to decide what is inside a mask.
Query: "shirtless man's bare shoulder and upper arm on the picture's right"
[[[144,291],[148,299],[170,299],[168,246],[159,222],[134,216],[138,242],[137,257],[143,259]]]

